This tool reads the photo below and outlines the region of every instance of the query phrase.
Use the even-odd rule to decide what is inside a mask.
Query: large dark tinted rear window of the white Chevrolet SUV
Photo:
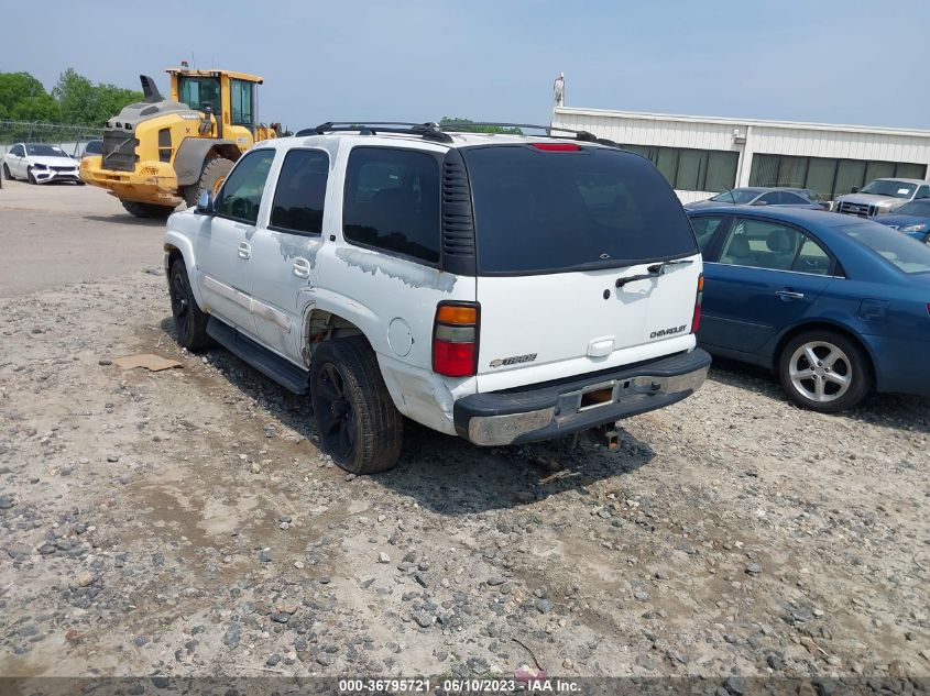
[[[462,155],[479,273],[628,266],[698,251],[671,187],[637,155],[532,145],[462,148]]]

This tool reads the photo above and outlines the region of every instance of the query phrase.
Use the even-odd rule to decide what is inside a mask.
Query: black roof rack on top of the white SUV
[[[586,143],[598,143],[609,147],[620,147],[619,144],[605,137],[598,137],[588,131],[578,131],[575,129],[562,128],[560,125],[535,125],[532,123],[499,123],[496,121],[456,121],[451,123],[407,123],[404,121],[327,121],[320,123],[316,128],[308,128],[297,131],[297,136],[305,135],[324,135],[325,133],[338,132],[358,132],[360,135],[376,135],[379,133],[402,133],[407,135],[420,135],[426,140],[435,140],[440,143],[451,143],[452,139],[449,132],[471,132],[475,126],[493,126],[493,128],[508,128],[541,131],[541,133],[534,133],[534,137],[559,137],[565,139],[567,135],[559,135],[557,133],[567,133],[569,136],[573,135],[575,140]]]

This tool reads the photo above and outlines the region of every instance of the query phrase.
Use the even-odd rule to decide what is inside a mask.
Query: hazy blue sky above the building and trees
[[[930,2],[4,2],[0,70],[262,75],[264,121],[548,122],[567,104],[930,129]],[[10,31],[18,27],[17,31]],[[35,27],[34,31],[32,27]],[[128,48],[121,48],[127,47]]]

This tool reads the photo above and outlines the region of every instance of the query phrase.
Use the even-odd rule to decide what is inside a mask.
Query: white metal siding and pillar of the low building
[[[909,162],[928,166],[930,131],[872,129],[821,123],[603,111],[556,107],[552,125],[584,130],[625,145],[691,147],[740,153],[736,186],[748,186],[756,153],[849,159]],[[713,196],[676,191],[682,202]]]

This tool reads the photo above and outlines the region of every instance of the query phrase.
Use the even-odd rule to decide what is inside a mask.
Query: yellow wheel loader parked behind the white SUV
[[[105,188],[139,218],[167,218],[200,192],[216,192],[240,155],[276,137],[258,122],[262,78],[230,70],[169,68],[171,99],[144,75],[144,101],[107,122],[103,152],[85,157],[80,178]]]

